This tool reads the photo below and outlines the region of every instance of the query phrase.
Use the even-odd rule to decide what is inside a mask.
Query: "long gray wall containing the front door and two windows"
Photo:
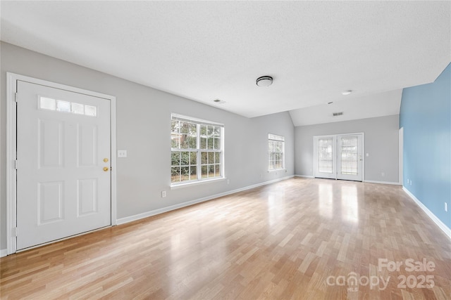
[[[288,112],[249,119],[216,107],[1,43],[0,249],[6,248],[6,72],[116,96],[117,218],[142,214],[249,185],[294,175],[294,126]],[[230,180],[171,190],[171,112],[225,125]],[[285,136],[286,171],[268,173],[268,133]],[[161,198],[161,191],[167,197]]]

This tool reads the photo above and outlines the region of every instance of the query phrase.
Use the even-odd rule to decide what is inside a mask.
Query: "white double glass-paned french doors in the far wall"
[[[314,177],[363,180],[363,133],[314,136]]]

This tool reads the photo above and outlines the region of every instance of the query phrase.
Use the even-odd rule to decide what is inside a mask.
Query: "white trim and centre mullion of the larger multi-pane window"
[[[198,119],[195,117],[189,117],[186,115],[180,115],[180,114],[176,114],[176,113],[172,113],[171,114],[171,121],[172,119],[180,119],[186,122],[192,122],[192,123],[196,123],[197,124],[197,132],[200,132],[200,125],[205,124],[205,125],[214,125],[214,126],[219,126],[221,127],[221,149],[220,150],[214,150],[214,149],[205,149],[207,150],[207,152],[221,152],[221,163],[219,164],[219,169],[220,172],[222,174],[222,176],[220,177],[212,177],[212,178],[200,178],[200,179],[195,179],[195,180],[191,180],[191,181],[179,181],[179,182],[171,182],[169,184],[169,187],[171,188],[171,190],[177,189],[177,188],[185,188],[187,186],[193,186],[193,185],[199,185],[199,184],[204,184],[204,183],[212,183],[212,182],[217,182],[217,181],[224,181],[226,180],[226,174],[225,174],[225,168],[224,168],[224,160],[225,160],[225,155],[224,155],[224,133],[225,133],[225,129],[224,129],[224,124],[222,123],[218,123],[218,122],[213,122],[213,121],[209,121],[206,119]],[[197,145],[200,145],[200,135],[197,135]],[[174,148],[171,148],[171,152],[173,151]],[[197,174],[202,174],[202,164],[200,163],[200,160],[202,159],[201,157],[201,152],[204,149],[186,149],[187,152],[197,152]],[[202,176],[202,175],[200,175]]]

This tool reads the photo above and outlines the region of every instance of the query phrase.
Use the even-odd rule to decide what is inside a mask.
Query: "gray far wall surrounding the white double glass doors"
[[[399,115],[295,127],[295,174],[313,176],[313,137],[359,133],[365,136],[365,181],[398,183]],[[382,176],[382,172],[385,176]]]

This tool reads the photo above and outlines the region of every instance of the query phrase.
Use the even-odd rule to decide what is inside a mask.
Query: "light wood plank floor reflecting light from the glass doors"
[[[424,259],[435,268],[409,270]],[[451,299],[450,240],[400,186],[326,179],[292,178],[0,263],[1,299]]]

